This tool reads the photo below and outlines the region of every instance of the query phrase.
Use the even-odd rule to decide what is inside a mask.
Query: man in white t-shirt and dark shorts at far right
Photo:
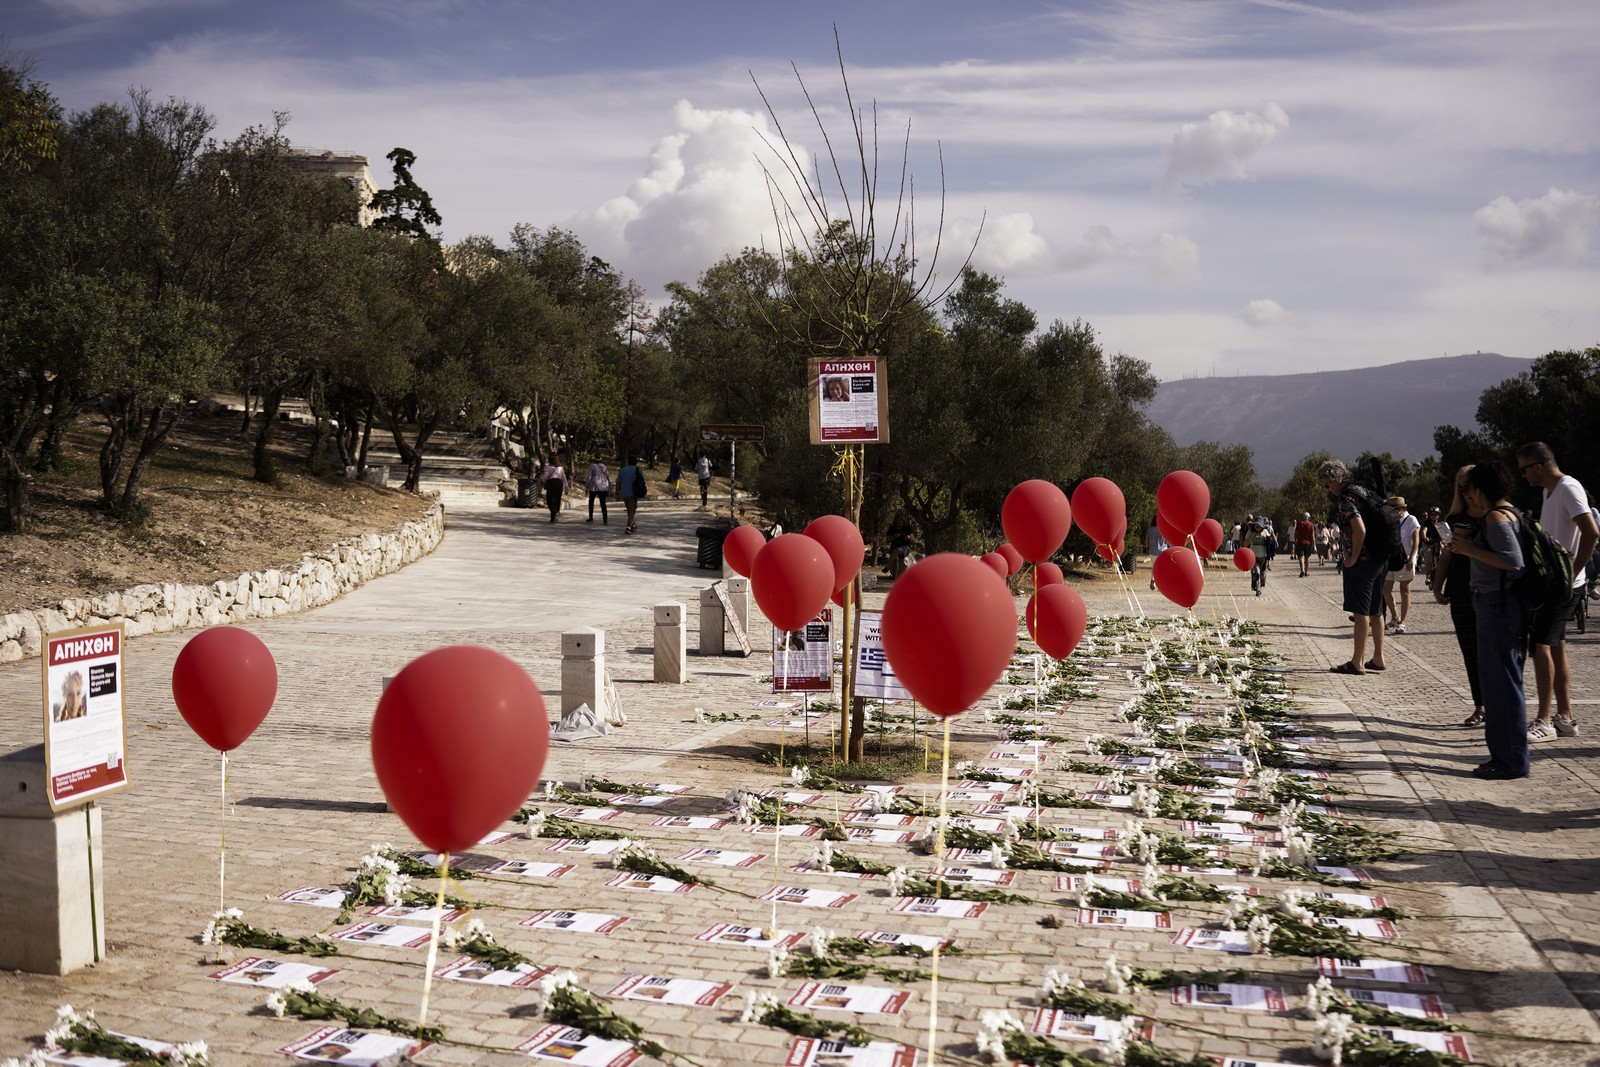
[[[1562,474],[1555,453],[1544,442],[1533,442],[1517,450],[1517,472],[1544,490],[1539,501],[1539,525],[1573,553],[1573,595],[1582,595],[1584,566],[1600,541],[1600,525],[1589,510],[1584,486]],[[1571,614],[1571,597],[1565,603],[1536,611],[1530,643],[1533,645],[1533,678],[1539,686],[1539,717],[1528,725],[1528,741],[1550,737],[1576,737],[1573,720],[1573,669],[1566,661],[1566,616]],[[1550,718],[1550,697],[1555,697],[1557,715]]]

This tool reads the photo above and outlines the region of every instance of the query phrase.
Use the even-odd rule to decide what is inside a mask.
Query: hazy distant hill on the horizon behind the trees
[[[1147,414],[1179,445],[1250,445],[1262,485],[1278,485],[1318,448],[1344,461],[1362,450],[1424,459],[1435,426],[1477,426],[1478,397],[1533,360],[1491,352],[1314,374],[1189,378],[1162,382]]]

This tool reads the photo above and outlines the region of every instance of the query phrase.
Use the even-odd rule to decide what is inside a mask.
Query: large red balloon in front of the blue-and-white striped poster
[[[970,555],[939,552],[883,601],[883,654],[934,715],[958,715],[998,681],[1016,648],[1016,601]]]

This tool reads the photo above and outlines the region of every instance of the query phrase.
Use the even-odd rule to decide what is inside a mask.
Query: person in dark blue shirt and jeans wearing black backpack
[[[1512,582],[1522,574],[1517,512],[1507,496],[1510,472],[1498,459],[1467,472],[1462,499],[1472,518],[1483,520],[1470,537],[1451,542],[1451,552],[1472,560],[1472,613],[1478,627],[1478,683],[1483,693],[1483,741],[1490,758],[1472,769],[1475,777],[1528,777],[1528,702],[1522,688],[1526,608]]]

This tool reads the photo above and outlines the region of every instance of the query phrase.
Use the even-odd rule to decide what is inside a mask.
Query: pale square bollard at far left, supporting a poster
[[[101,809],[50,809],[42,744],[0,758],[0,969],[67,974],[106,958]]]

